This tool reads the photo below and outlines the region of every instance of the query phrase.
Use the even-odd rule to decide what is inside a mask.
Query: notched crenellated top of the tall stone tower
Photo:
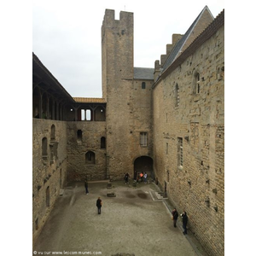
[[[119,20],[114,19],[114,10],[106,9],[104,19],[102,21],[102,26],[118,26],[119,23],[133,24],[133,13],[120,11]]]

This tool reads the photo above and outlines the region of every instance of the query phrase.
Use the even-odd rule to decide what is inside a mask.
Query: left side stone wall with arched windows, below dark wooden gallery
[[[32,119],[32,234],[36,241],[67,175],[66,122]],[[44,146],[43,146],[44,144]]]

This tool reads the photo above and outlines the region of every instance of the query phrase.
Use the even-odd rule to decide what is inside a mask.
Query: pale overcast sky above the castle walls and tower
[[[102,97],[101,27],[105,9],[134,14],[134,67],[154,67],[207,5],[216,17],[224,0],[123,1],[33,0],[32,51],[67,92]]]

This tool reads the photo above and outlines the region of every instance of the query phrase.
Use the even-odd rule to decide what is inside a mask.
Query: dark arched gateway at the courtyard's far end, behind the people
[[[147,172],[148,177],[154,178],[153,174],[153,160],[149,156],[140,156],[136,160],[134,160],[134,177],[137,177],[137,174],[140,172]]]

